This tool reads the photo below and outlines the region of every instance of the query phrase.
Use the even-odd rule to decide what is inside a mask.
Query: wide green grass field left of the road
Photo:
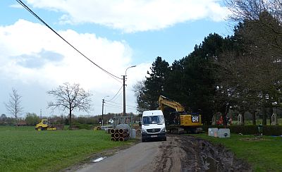
[[[59,171],[95,152],[130,143],[110,137],[104,131],[0,126],[0,171]]]

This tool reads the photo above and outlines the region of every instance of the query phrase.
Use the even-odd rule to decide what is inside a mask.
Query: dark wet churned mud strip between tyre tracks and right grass
[[[222,145],[212,145],[207,140],[183,136],[180,146],[187,154],[187,159],[181,161],[181,171],[252,171],[249,164],[236,159]]]

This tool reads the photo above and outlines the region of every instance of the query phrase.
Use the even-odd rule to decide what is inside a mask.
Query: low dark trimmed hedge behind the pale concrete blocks
[[[241,133],[243,135],[258,135],[258,125],[203,125],[203,131],[207,132],[208,128],[229,128],[231,133]],[[263,125],[263,135],[282,135],[282,125]]]

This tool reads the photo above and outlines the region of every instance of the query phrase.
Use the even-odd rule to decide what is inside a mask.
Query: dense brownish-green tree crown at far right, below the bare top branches
[[[263,124],[266,125],[264,109],[271,108],[271,103],[278,102],[278,97],[281,97],[282,49],[276,46],[281,37],[269,32],[266,27],[259,27],[258,23],[262,20],[275,23],[275,19],[267,13],[262,13],[259,21],[242,23],[234,37],[235,42],[240,42],[242,51],[224,52],[219,63],[225,69],[221,73],[221,86],[225,92],[228,90],[238,111],[244,114],[245,111],[262,109]],[[278,25],[276,27],[278,30]]]

